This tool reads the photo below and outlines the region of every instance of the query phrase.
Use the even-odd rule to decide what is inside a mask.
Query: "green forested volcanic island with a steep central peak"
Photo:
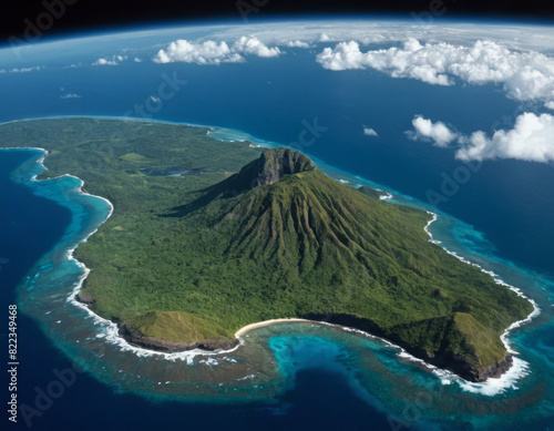
[[[512,363],[501,336],[532,304],[430,242],[424,211],[321,173],[290,148],[150,121],[2,125],[113,215],[75,250],[78,299],[147,349],[225,350],[240,328],[298,318],[382,337],[470,381]]]

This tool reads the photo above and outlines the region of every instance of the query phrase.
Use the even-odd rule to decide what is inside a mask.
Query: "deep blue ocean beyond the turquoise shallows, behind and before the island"
[[[520,112],[519,104],[495,86],[439,88],[367,70],[336,73],[324,70],[314,61],[314,53],[306,50],[290,50],[289,55],[278,60],[249,58],[245,64],[222,66],[153,64],[145,60],[113,68],[66,68],[78,62],[90,64],[100,54],[113,53],[116,44],[105,42],[102,48],[91,48],[94,53],[60,47],[52,44],[33,54],[33,63],[48,64],[40,72],[0,75],[0,122],[69,115],[134,116],[227,127],[260,141],[296,147],[300,133],[317,125],[319,132],[314,142],[300,150],[324,165],[375,182],[406,199],[435,204],[432,206],[440,212],[464,223],[450,233],[453,246],[502,263],[517,273],[513,279],[534,280],[531,290],[522,286],[524,291],[553,286],[554,167],[515,161],[485,162],[471,166],[471,176],[452,188],[448,178],[463,165],[454,160],[453,151],[412,142],[404,134],[417,114],[440,120],[466,134],[511,127]],[[9,57],[4,52],[0,60]],[[175,96],[163,102],[155,113],[137,113],[134,105],[156,95],[164,75],[174,74],[187,81]],[[61,99],[61,89],[81,98]],[[373,127],[379,137],[365,136],[365,125]],[[33,143],[29,142],[29,146]],[[44,254],[58,246],[72,223],[72,212],[66,206],[38,196],[32,186],[13,179],[18,167],[33,157],[37,154],[29,151],[0,152],[2,310],[16,302],[16,287]],[[430,191],[445,198],[429,202]],[[551,290],[545,290],[543,304],[550,305],[552,296]],[[24,314],[20,314],[18,326],[18,390],[32,404],[37,389],[47,388],[55,379],[54,370],[71,367],[71,360],[44,335],[45,327]],[[536,347],[530,351],[542,358],[542,367],[554,365],[554,338],[547,328],[552,325],[520,337],[522,343]],[[6,346],[6,331],[0,330],[0,335]],[[82,373],[65,389],[65,396],[33,417],[33,429],[429,429],[428,423],[417,420],[391,423],[389,413],[363,400],[346,381],[335,367],[332,355],[324,363],[314,363],[309,348],[306,349],[295,356],[296,365],[305,360],[306,366],[298,367],[294,387],[273,402],[153,402],[116,391]],[[554,377],[552,368],[540,372],[551,380]],[[6,391],[1,392],[2,400],[7,400]],[[451,423],[449,427],[452,429]],[[472,429],[468,422],[460,422],[459,427]],[[506,421],[505,428],[510,427]],[[548,427],[552,422],[541,418],[532,429]]]

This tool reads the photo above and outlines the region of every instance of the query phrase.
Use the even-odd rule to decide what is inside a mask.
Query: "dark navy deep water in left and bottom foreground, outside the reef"
[[[14,286],[21,283],[39,257],[59,243],[71,223],[68,208],[37,196],[31,187],[10,178],[14,170],[35,157],[34,151],[0,151],[0,306],[4,311],[9,305],[17,304]],[[3,320],[8,327],[7,319]],[[41,394],[49,390],[52,381],[60,380],[58,371],[73,369],[73,363],[52,345],[39,325],[22,312],[18,316],[18,328],[20,404],[31,409],[37,406],[44,408],[20,414],[18,429],[25,429],[30,423],[32,429],[38,430],[71,431],[201,425],[208,430],[223,427],[230,430],[361,430],[366,429],[361,424],[368,418],[377,429],[387,424],[386,418],[352,393],[340,373],[332,372],[332,363],[330,370],[329,363],[319,369],[300,370],[295,390],[271,403],[217,404],[214,408],[206,403],[152,402],[142,397],[114,392],[85,373],[78,374],[75,382],[65,386],[60,398],[50,402]],[[7,338],[7,332],[2,330],[0,342],[3,346],[8,343]],[[299,352],[297,360],[301,360],[301,355]],[[310,356],[309,352],[305,355]],[[3,376],[2,388],[7,388],[8,382],[9,379]],[[8,402],[8,399],[7,391],[2,390],[2,401]]]

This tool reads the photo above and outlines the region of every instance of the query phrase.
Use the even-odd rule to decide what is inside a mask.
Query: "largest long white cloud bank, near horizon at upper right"
[[[375,69],[392,78],[410,78],[433,85],[502,84],[517,101],[554,102],[554,59],[535,51],[511,51],[490,40],[471,45],[425,43],[409,38],[401,48],[361,52],[356,41],[325,48],[317,61],[334,71]]]

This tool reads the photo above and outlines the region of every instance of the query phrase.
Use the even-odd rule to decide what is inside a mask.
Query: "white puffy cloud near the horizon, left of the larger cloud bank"
[[[153,61],[155,63],[222,64],[244,62],[246,61],[244,55],[270,58],[279,54],[281,51],[278,48],[268,48],[255,37],[243,35],[230,47],[224,41],[208,40],[194,43],[179,39],[171,42],[165,50],[160,50]]]

